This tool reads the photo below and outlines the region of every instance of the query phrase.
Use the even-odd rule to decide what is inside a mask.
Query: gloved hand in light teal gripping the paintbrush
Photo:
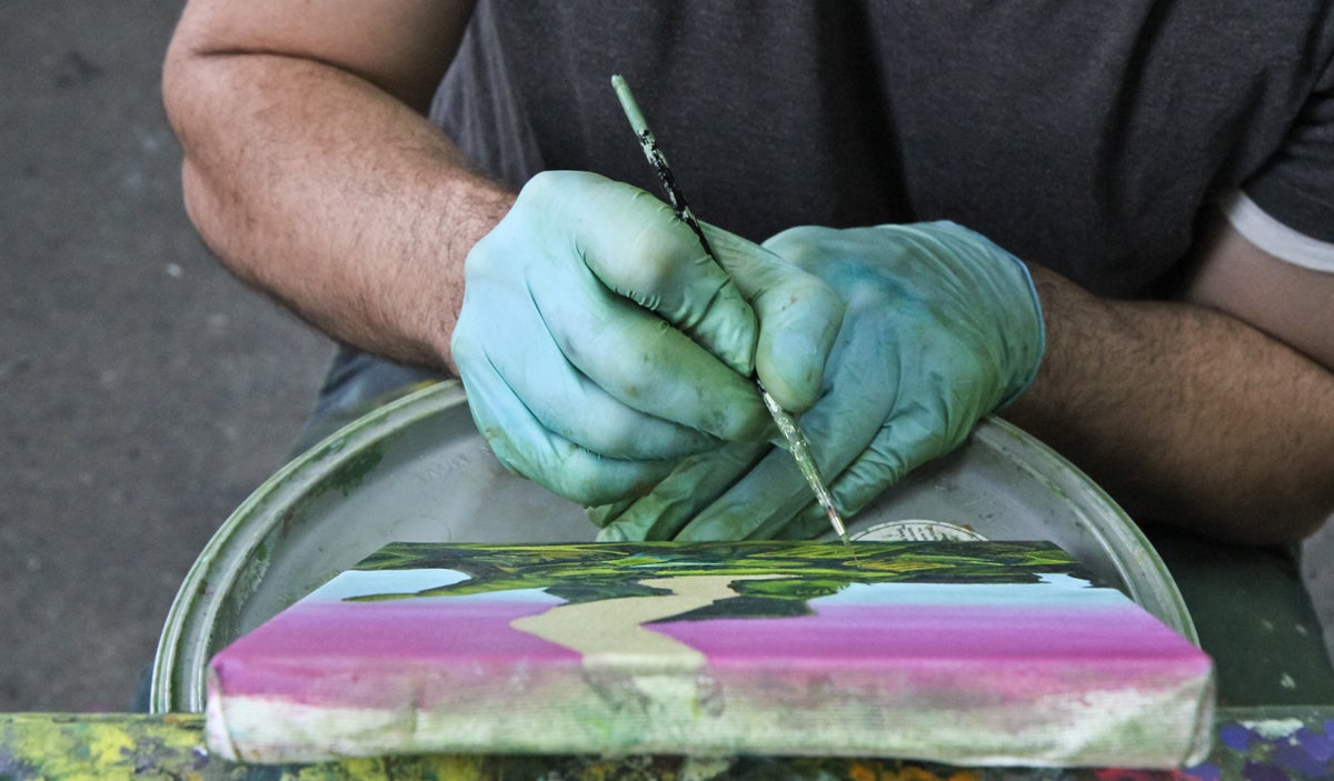
[[[751,379],[756,344],[775,398],[815,401],[838,295],[706,229],[736,283],[644,191],[583,172],[524,187],[468,255],[451,339],[506,466],[594,505],[647,493],[687,456],[762,441],[772,424]]]

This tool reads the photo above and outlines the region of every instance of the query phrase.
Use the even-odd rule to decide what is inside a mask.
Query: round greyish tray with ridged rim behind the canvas
[[[962,448],[912,472],[848,532],[883,534],[899,520],[991,540],[1050,540],[1198,642],[1171,576],[1121,508],[1000,418],[982,421]],[[152,712],[203,710],[216,650],[386,542],[580,542],[595,532],[583,508],[500,466],[462,385],[419,390],[288,464],[223,524],[167,617]]]

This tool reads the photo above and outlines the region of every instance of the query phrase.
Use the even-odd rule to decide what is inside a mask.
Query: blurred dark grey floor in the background
[[[185,220],[157,85],[179,9],[0,3],[0,712],[128,706],[332,353]],[[1306,558],[1329,628],[1334,528]]]

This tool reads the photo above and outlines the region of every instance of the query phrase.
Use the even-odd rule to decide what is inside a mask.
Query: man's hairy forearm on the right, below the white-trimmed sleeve
[[[1138,520],[1277,544],[1329,517],[1334,375],[1227,315],[1033,271],[1047,356],[1006,417]]]

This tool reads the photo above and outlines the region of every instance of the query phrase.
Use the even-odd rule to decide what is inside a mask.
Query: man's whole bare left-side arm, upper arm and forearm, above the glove
[[[512,195],[424,117],[470,3],[192,0],[163,95],[187,211],[335,339],[447,368],[463,260]]]

